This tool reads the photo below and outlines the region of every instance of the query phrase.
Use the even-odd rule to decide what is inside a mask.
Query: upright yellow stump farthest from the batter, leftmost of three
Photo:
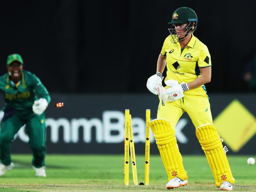
[[[129,140],[130,140],[130,111],[124,113],[124,185],[129,185]]]

